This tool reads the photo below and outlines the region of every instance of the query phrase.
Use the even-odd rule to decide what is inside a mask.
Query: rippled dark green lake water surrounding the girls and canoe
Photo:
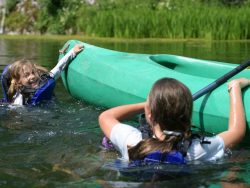
[[[24,57],[50,69],[56,64],[58,50],[65,42],[0,39],[1,71],[7,64]],[[168,53],[231,63],[250,59],[248,42],[85,42],[119,51]],[[161,181],[124,177],[107,168],[117,153],[100,147],[103,134],[97,119],[103,109],[73,99],[61,80],[57,82],[55,95],[51,103],[37,107],[0,106],[0,187],[250,185],[250,144],[235,148],[233,155],[224,161],[191,165],[190,173],[179,177]]]

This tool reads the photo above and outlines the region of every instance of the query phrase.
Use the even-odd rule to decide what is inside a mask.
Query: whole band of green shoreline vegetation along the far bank
[[[5,8],[5,33],[31,38],[250,39],[250,0],[6,0]]]

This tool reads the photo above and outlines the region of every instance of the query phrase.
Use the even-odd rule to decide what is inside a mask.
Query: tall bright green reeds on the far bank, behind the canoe
[[[78,31],[89,36],[127,38],[250,39],[250,6],[202,4],[148,9],[79,9]]]

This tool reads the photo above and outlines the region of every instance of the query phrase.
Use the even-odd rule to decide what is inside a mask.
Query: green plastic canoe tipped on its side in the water
[[[68,41],[63,49],[69,45],[69,50],[76,43],[82,42]],[[83,45],[84,50],[62,74],[64,86],[73,97],[108,108],[144,101],[152,84],[162,77],[176,78],[195,93],[236,67],[176,55],[134,54]],[[250,79],[250,70],[233,78],[236,77]],[[250,89],[244,91],[243,98],[249,132]],[[218,133],[227,129],[228,114],[229,95],[225,83],[194,102],[192,123]]]

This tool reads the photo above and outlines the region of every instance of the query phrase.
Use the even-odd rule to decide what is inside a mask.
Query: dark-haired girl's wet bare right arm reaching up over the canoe
[[[228,130],[218,134],[223,140],[225,148],[238,144],[245,136],[246,119],[242,101],[241,89],[248,86],[250,80],[239,78],[228,84],[230,96],[230,114]]]

